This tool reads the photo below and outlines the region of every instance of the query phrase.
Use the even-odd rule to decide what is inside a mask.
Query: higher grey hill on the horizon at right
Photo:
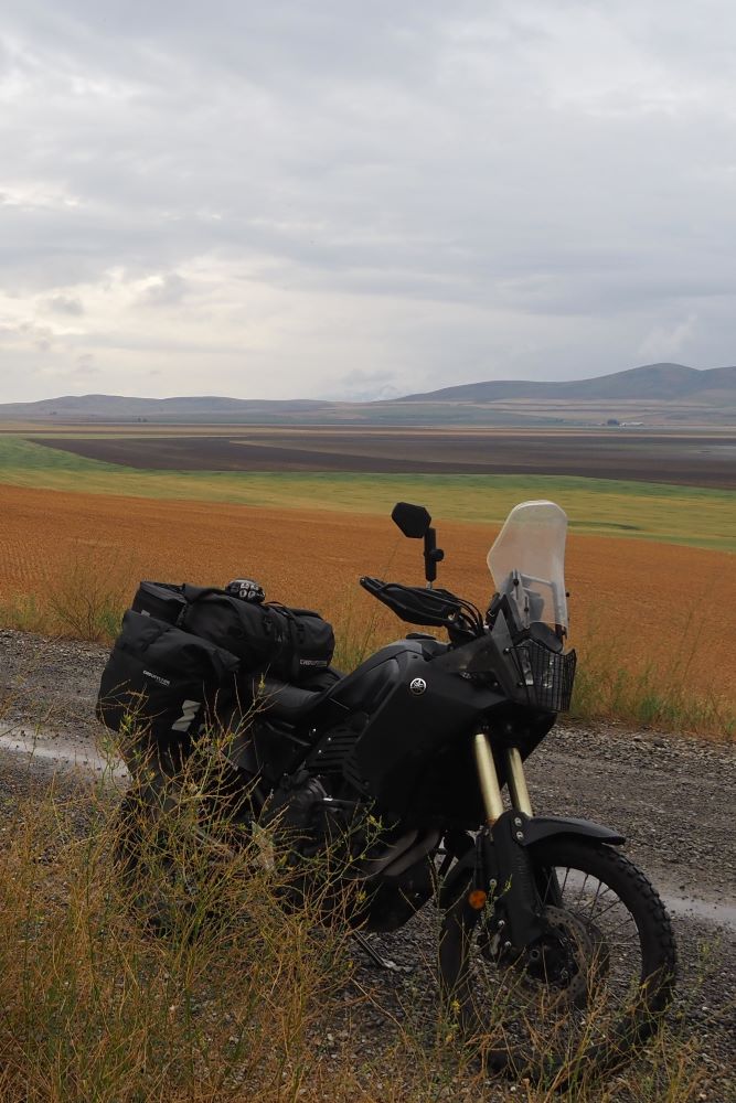
[[[589,379],[535,383],[529,379],[491,379],[407,395],[405,403],[492,403],[509,399],[689,399],[704,396],[736,397],[736,367],[698,371],[684,364],[647,364]]]

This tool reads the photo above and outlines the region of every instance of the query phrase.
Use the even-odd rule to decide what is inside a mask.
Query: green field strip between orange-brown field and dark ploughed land
[[[573,532],[736,550],[736,493],[562,475],[152,471],[0,437],[0,482],[92,494],[386,514],[418,501],[439,520],[500,523],[524,499],[550,497]]]

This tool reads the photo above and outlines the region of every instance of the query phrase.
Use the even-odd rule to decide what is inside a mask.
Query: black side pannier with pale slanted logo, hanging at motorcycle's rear
[[[236,655],[129,609],[103,672],[97,717],[121,735],[146,733],[161,750],[184,747],[234,692]]]

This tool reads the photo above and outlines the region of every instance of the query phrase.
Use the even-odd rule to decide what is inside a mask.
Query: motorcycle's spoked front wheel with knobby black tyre
[[[675,946],[659,896],[618,852],[562,837],[531,857],[540,941],[514,950],[493,901],[479,913],[463,892],[445,917],[441,981],[450,1016],[490,1064],[561,1086],[622,1062],[651,1035],[671,998]]]

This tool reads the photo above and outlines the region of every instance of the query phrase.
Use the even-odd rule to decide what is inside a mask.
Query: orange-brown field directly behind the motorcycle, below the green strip
[[[0,485],[0,603],[18,593],[43,600],[50,587],[68,585],[75,564],[83,572],[124,576],[131,587],[139,578],[222,585],[252,576],[275,600],[319,609],[339,632],[348,621],[354,631],[375,612],[374,599],[358,586],[361,575],[422,581],[419,542],[401,536],[388,517]],[[435,520],[447,553],[441,585],[484,603],[491,591],[486,553],[495,532]],[[733,700],[734,567],[727,553],[572,536],[574,642]]]

